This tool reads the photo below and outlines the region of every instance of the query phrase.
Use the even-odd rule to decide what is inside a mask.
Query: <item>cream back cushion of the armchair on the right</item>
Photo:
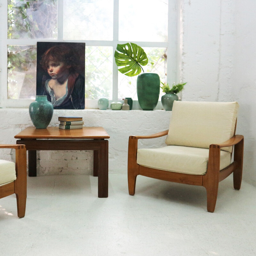
[[[174,101],[167,145],[209,148],[235,131],[237,102]],[[221,148],[228,152],[232,147]]]

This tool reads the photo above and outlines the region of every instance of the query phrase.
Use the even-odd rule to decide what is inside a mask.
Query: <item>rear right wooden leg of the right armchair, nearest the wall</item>
[[[237,168],[233,172],[233,184],[236,190],[241,188],[242,174],[243,174],[243,152],[244,152],[244,139],[235,145],[234,149],[234,162],[237,162]]]

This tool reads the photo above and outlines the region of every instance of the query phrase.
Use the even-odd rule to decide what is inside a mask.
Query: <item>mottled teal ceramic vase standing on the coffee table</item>
[[[47,96],[36,95],[36,100],[29,105],[29,116],[36,128],[45,129],[52,120],[53,105]]]

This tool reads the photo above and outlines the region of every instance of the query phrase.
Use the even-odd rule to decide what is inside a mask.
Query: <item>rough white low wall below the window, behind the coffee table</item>
[[[149,135],[169,128],[171,111],[154,110],[54,110],[49,126],[58,126],[58,116],[82,116],[85,126],[102,126],[108,132],[109,172],[127,172],[130,135]],[[14,136],[33,126],[28,109],[0,108],[0,144],[16,144]],[[139,140],[139,147],[161,147],[161,139]],[[14,159],[14,150],[1,149],[0,159]],[[92,174],[92,151],[38,151],[37,175]]]

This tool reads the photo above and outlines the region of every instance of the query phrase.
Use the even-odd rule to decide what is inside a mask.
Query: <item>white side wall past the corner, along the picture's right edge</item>
[[[241,105],[238,132],[244,134],[244,178],[256,185],[256,1],[236,0],[234,94]]]

